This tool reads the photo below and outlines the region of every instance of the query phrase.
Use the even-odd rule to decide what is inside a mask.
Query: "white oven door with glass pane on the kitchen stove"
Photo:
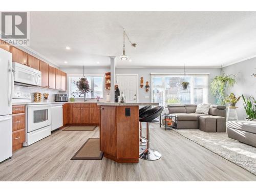
[[[27,132],[51,125],[51,105],[28,105]]]

